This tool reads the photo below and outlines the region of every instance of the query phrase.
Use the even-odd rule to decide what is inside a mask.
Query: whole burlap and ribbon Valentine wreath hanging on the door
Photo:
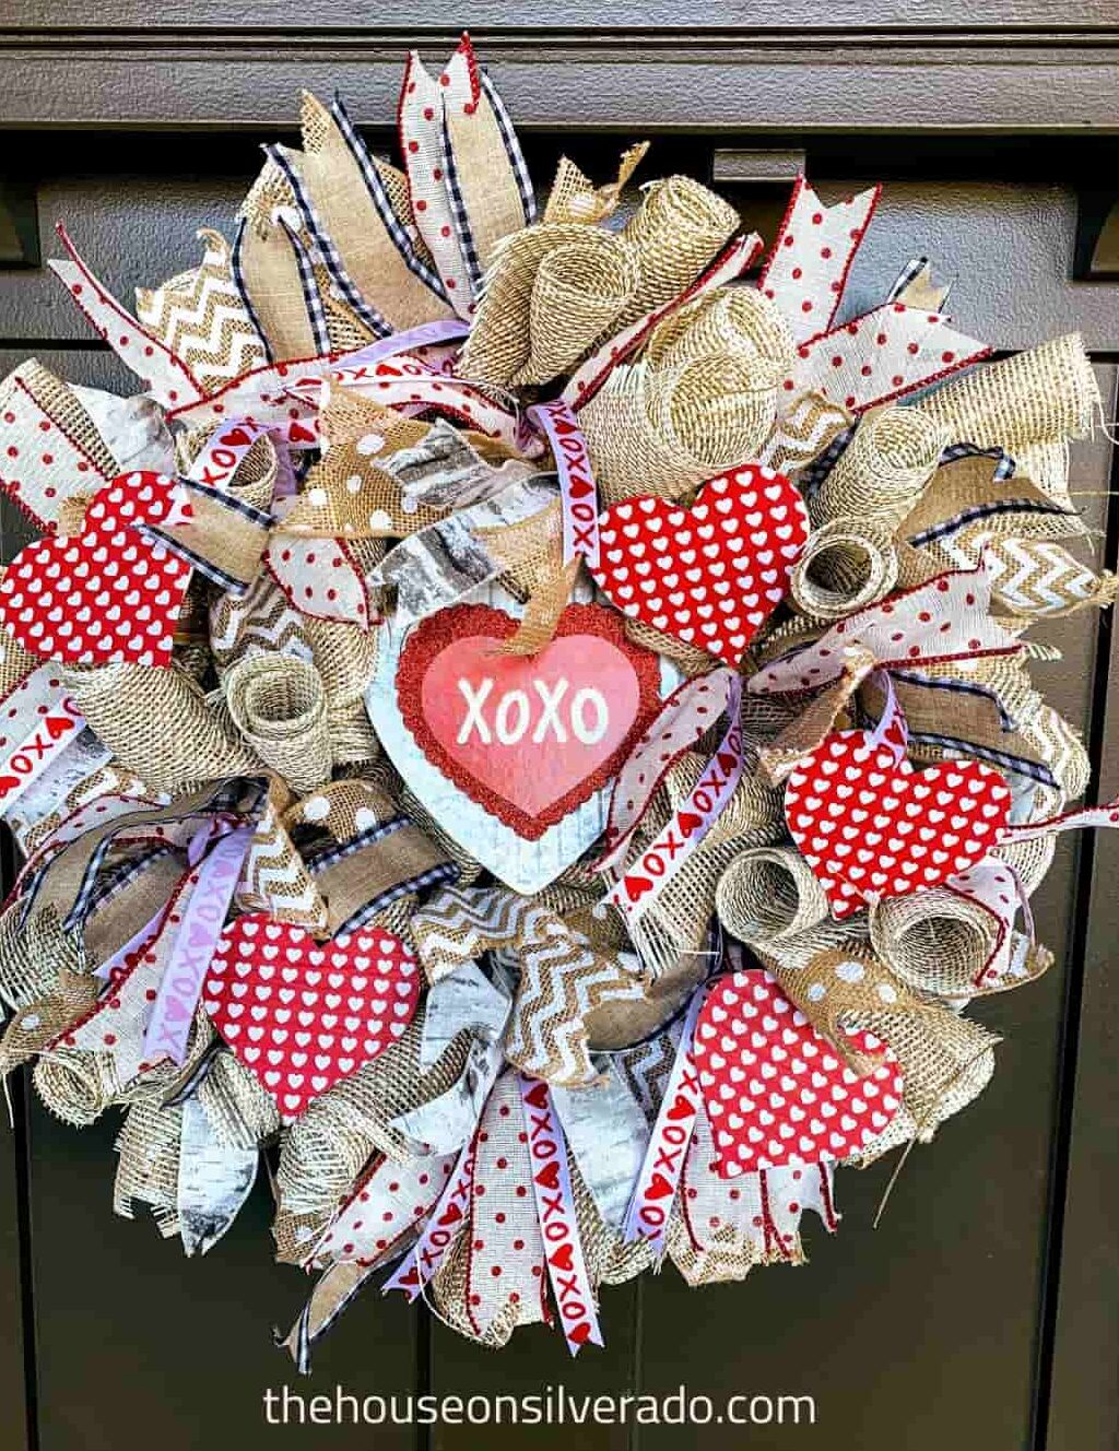
[[[803,1261],[983,1091],[1055,834],[1119,821],[1029,676],[1115,595],[1078,337],[985,361],[923,258],[853,302],[878,187],[800,177],[766,252],[642,145],[537,213],[466,38],[399,144],[305,96],[135,313],[60,231],[138,396],[0,387],[0,1071],[119,1110],[187,1255],[263,1156],[303,1368],[370,1281],[575,1352],[665,1258]]]

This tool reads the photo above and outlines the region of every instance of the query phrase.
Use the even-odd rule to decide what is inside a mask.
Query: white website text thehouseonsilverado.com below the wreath
[[[811,1396],[743,1393],[705,1396],[686,1386],[665,1394],[585,1396],[565,1386],[511,1394],[357,1396],[334,1392],[306,1394],[282,1386],[263,1396],[269,1426],[813,1426]]]

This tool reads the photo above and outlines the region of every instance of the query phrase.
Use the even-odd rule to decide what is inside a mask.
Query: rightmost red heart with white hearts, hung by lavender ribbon
[[[939,887],[999,844],[1010,788],[978,760],[898,763],[868,731],[833,731],[785,788],[792,840],[835,917],[878,897]]]

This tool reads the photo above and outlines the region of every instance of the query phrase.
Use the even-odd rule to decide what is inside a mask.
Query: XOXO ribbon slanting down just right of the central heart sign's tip
[[[739,724],[740,705],[742,681],[731,675],[724,707],[730,724],[723,740],[672,818],[626,868],[595,908],[599,914],[607,907],[617,907],[631,923],[642,917],[716,824],[734,795],[746,765]],[[647,749],[647,741],[642,749]]]

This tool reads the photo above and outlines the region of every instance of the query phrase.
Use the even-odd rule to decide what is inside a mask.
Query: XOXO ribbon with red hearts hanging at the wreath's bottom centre
[[[583,1345],[604,1345],[598,1312],[586,1273],[586,1261],[575,1217],[567,1145],[552,1091],[541,1078],[518,1074],[528,1158],[533,1165],[533,1194],[544,1241],[552,1294],[559,1310],[567,1349],[578,1355]]]

